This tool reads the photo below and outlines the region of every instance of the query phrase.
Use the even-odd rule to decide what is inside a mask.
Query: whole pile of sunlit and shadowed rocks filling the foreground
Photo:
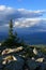
[[[46,70],[46,55],[35,47],[30,48],[34,56],[25,55],[22,46],[5,48],[0,55],[0,70]]]

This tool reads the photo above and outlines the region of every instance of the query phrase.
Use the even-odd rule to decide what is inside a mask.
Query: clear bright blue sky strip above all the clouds
[[[16,9],[45,10],[46,0],[0,0],[0,5],[13,6]]]

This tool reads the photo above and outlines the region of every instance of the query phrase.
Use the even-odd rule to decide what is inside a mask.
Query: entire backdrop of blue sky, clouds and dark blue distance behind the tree
[[[6,37],[10,19],[25,40],[46,43],[46,0],[0,0],[0,40]]]

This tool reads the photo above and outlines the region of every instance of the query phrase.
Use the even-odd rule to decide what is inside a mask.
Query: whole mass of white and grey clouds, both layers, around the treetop
[[[5,5],[0,5],[0,27],[4,28],[9,26],[9,20],[13,19],[14,27],[25,28],[33,26],[46,25],[46,18],[40,18],[46,10],[31,11],[26,9],[13,9]]]

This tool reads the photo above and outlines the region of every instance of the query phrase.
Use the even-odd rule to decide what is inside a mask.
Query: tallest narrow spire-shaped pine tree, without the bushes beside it
[[[7,39],[7,44],[9,46],[15,45],[15,36],[13,33],[13,20],[10,20],[10,29],[9,29],[9,39]]]

